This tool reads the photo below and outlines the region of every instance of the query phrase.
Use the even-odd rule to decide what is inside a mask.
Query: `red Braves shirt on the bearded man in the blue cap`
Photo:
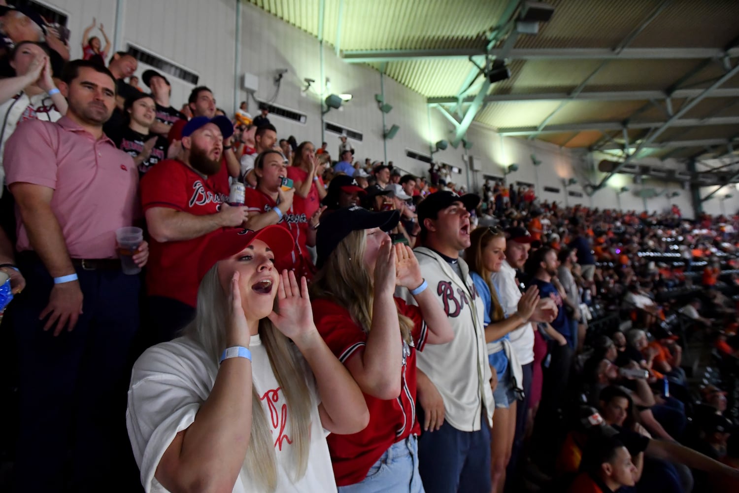
[[[225,166],[221,166],[217,174],[205,180],[185,163],[167,159],[144,175],[140,188],[144,212],[152,207],[166,207],[205,216],[216,214],[228,200],[228,174]],[[149,296],[166,296],[195,306],[198,287],[195,265],[208,236],[164,243],[150,239],[146,276]]]

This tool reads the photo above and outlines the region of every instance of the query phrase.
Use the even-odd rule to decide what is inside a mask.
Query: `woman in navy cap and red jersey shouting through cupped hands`
[[[369,409],[363,431],[327,438],[341,493],[423,492],[415,351],[449,342],[454,333],[411,249],[392,245],[386,233],[398,220],[398,211],[338,209],[324,217],[316,241],[316,327]],[[395,298],[396,286],[411,290],[418,306]]]

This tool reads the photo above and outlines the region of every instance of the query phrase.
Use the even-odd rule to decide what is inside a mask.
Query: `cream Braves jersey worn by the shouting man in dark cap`
[[[416,356],[418,369],[434,382],[444,400],[444,419],[463,432],[480,429],[481,413],[486,411],[492,426],[494,400],[490,388],[492,373],[483,325],[484,306],[469,276],[469,268],[459,259],[463,279],[435,251],[419,247],[414,250],[420,272],[429,290],[438,296],[454,339],[446,344],[428,345]],[[408,290],[403,299],[415,305]]]

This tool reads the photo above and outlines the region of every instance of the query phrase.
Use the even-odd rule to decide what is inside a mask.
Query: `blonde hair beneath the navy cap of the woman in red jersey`
[[[311,298],[325,298],[349,311],[364,332],[372,326],[375,280],[364,266],[367,231],[352,231],[336,246],[310,283]],[[411,343],[413,322],[398,313],[403,341]]]

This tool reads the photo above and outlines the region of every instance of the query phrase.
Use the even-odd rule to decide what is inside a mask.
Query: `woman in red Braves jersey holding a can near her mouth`
[[[287,163],[282,152],[269,149],[254,161],[256,188],[247,188],[244,205],[250,217],[246,228],[259,231],[268,225],[281,225],[295,239],[293,248],[293,270],[297,276],[310,281],[316,268],[310,259],[308,245],[316,245],[316,228],[324,208],[319,208],[308,217],[302,206],[293,201],[295,188],[282,188],[282,177],[287,176]]]

